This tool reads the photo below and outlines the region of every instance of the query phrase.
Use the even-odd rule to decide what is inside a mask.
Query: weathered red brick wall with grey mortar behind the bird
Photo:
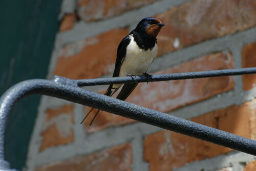
[[[147,16],[166,24],[148,73],[256,67],[256,1],[64,0],[48,78],[111,77],[119,42]],[[256,75],[140,83],[127,102],[256,139],[255,85]],[[80,125],[89,109],[43,96],[28,170],[256,170],[254,156],[104,111]]]

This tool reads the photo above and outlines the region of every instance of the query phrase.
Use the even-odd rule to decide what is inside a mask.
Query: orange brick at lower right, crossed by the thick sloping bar
[[[233,105],[191,119],[209,127],[253,138],[255,102]],[[253,117],[252,117],[253,116]],[[172,170],[186,163],[225,154],[231,149],[170,131],[149,135],[144,140],[144,160],[150,170]]]

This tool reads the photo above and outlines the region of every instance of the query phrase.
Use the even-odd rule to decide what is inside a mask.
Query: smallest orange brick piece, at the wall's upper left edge
[[[59,31],[65,32],[72,29],[76,22],[76,14],[66,14],[61,21]]]

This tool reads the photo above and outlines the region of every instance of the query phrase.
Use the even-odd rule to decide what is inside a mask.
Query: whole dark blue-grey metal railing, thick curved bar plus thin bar
[[[121,77],[87,80],[71,80],[54,76],[51,80],[34,79],[20,82],[7,90],[0,99],[0,170],[12,170],[9,167],[9,163],[4,160],[4,132],[7,115],[16,102],[30,94],[42,94],[58,97],[60,99],[135,119],[166,130],[175,131],[184,135],[223,145],[244,153],[256,155],[256,141],[254,140],[197,124],[193,121],[168,115],[156,110],[148,109],[125,101],[120,101],[113,97],[79,87],[234,76],[244,74],[256,74],[256,67],[153,75],[151,78],[149,78],[149,80],[145,76],[136,76],[134,78]]]

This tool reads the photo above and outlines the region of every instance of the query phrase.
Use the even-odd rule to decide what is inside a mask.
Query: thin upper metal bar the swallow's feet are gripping
[[[198,72],[181,72],[173,74],[152,75],[151,78],[145,76],[133,77],[116,77],[116,78],[98,78],[86,80],[73,80],[78,86],[93,86],[106,84],[120,84],[120,83],[141,83],[141,82],[156,82],[169,80],[184,80],[184,79],[198,79],[207,77],[223,77],[223,76],[237,76],[245,74],[256,74],[256,67],[239,68],[239,69],[221,69]]]

